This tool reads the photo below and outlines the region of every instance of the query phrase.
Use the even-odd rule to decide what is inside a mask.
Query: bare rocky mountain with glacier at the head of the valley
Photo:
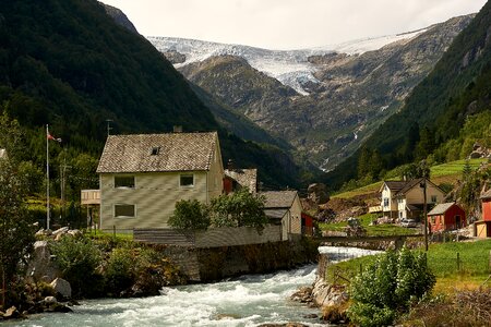
[[[196,59],[194,50],[180,49],[177,40],[167,50],[177,48],[183,56],[196,57],[177,65],[187,78],[330,170],[400,108],[472,16],[448,20],[361,55],[302,50],[285,57],[282,52],[278,65],[288,66],[284,61],[291,58],[296,60],[291,66],[301,64],[306,71],[291,72],[292,84],[286,73],[279,83],[271,72],[256,69],[261,68],[258,56],[266,50],[252,57],[251,48],[242,51],[235,46],[235,53],[241,56],[215,50],[220,56],[204,60]],[[165,51],[163,44],[159,47]],[[270,66],[272,53],[264,59]]]

